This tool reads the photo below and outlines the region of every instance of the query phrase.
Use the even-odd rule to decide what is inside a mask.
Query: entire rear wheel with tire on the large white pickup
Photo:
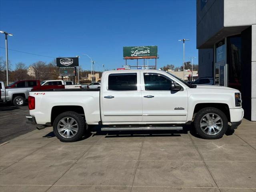
[[[76,112],[59,114],[53,123],[55,136],[62,142],[74,142],[84,135],[85,122]]]

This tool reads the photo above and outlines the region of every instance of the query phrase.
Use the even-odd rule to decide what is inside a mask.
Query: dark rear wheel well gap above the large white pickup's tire
[[[59,114],[67,111],[76,112],[80,114],[82,117],[84,117],[84,108],[82,106],[76,106],[76,105],[54,106],[51,112],[51,124],[53,124],[55,118]]]

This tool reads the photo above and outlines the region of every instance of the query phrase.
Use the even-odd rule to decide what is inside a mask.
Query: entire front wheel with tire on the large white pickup
[[[194,118],[196,132],[204,139],[221,138],[227,128],[228,119],[219,109],[209,107],[197,112]]]

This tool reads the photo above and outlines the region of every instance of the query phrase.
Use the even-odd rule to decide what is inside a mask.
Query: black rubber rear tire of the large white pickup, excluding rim
[[[77,133],[72,137],[72,138],[65,138],[63,137],[59,132],[58,132],[58,123],[60,122],[60,120],[62,120],[62,118],[66,118],[66,117],[71,117],[74,120],[76,120],[77,122],[77,128],[78,131]],[[64,112],[62,114],[59,114],[56,119],[53,122],[53,132],[55,134],[55,136],[62,142],[74,142],[77,140],[80,140],[82,138],[82,136],[84,135],[84,132],[86,130],[86,126],[85,126],[85,121],[82,118],[82,116],[80,116],[78,113],[73,112],[73,111],[67,111]]]

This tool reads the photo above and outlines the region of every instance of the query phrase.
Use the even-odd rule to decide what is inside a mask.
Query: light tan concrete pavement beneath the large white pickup
[[[0,191],[256,191],[256,122],[218,140],[172,133],[97,131],[63,143],[50,127],[34,130],[0,146]]]

